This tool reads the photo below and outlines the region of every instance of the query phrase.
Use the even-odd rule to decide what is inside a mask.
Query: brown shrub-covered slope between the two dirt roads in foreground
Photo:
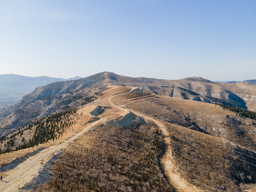
[[[66,150],[41,190],[172,191],[157,162],[161,142],[153,125],[101,126]]]

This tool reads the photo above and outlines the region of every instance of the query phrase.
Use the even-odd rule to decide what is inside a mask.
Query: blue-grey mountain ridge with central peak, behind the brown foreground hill
[[[134,86],[141,90],[145,86],[148,92],[168,97],[223,103],[256,111],[256,85],[254,84],[216,83],[201,77],[179,80],[135,78],[102,72],[85,78],[37,87],[33,92],[23,96],[15,105],[0,110],[0,127],[2,127],[0,135],[18,130],[33,119],[44,117],[55,111],[81,106],[84,97],[91,97],[92,93],[104,90],[107,85],[113,85],[114,82],[116,85]]]

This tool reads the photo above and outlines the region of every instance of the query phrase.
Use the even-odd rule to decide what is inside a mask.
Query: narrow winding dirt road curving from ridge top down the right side
[[[134,89],[132,89],[132,90],[134,90]],[[116,95],[110,97],[108,99],[110,105],[113,106],[113,107],[118,107],[114,103],[111,102],[111,99],[113,99],[114,97],[116,97],[118,95],[122,95],[122,94],[126,94],[126,93],[120,93],[120,94],[116,94]],[[131,101],[131,102],[133,102],[133,101]],[[137,111],[126,109],[125,105],[120,106],[118,108],[122,108],[123,110],[126,111],[126,113],[129,113],[131,111],[135,115],[141,116],[141,113],[138,113]],[[167,149],[166,149],[166,153],[164,154],[164,157],[162,158],[162,164],[164,165],[164,171],[167,174],[167,177],[168,177],[171,185],[173,187],[175,187],[175,189],[177,189],[180,192],[198,192],[198,191],[203,191],[201,189],[198,189],[196,186],[191,185],[190,183],[186,182],[183,178],[181,178],[179,176],[179,174],[175,170],[175,166],[174,166],[174,163],[173,163],[174,160],[173,160],[173,157],[172,157],[172,150],[171,150],[171,146],[170,146],[171,140],[169,138],[169,133],[167,132],[166,127],[161,122],[157,121],[154,118],[151,118],[151,117],[148,117],[148,116],[145,116],[145,117],[146,117],[146,119],[155,122],[156,125],[159,127],[159,129],[163,133],[164,140],[165,140],[165,143],[167,145]]]

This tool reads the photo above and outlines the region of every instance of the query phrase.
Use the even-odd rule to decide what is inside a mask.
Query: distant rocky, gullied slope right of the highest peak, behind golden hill
[[[221,84],[211,82],[201,77],[189,77],[179,80],[164,80],[153,78],[131,78],[112,74],[112,79],[120,85],[137,86],[142,89],[144,83],[147,91],[174,98],[195,100],[202,102],[228,102],[229,105],[247,108],[246,102]],[[251,106],[249,106],[251,107]]]

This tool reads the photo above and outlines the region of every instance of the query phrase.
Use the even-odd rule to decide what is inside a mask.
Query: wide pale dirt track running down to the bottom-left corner
[[[5,172],[6,176],[3,178],[4,182],[0,183],[0,191],[19,191],[19,188],[23,187],[25,183],[30,182],[38,175],[39,170],[43,169],[43,166],[47,160],[57,154],[58,151],[64,148],[68,143],[74,141],[79,136],[89,131],[93,126],[103,122],[103,120],[104,119],[100,119],[97,122],[86,125],[81,132],[77,133],[68,140],[63,141],[60,145],[50,146],[42,150],[40,153],[28,158],[25,162],[19,164],[15,169]]]

